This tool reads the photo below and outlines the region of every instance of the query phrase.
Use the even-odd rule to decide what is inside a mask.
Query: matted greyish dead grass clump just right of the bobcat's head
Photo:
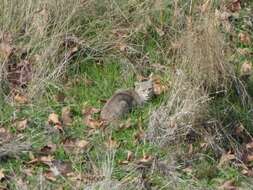
[[[201,87],[185,81],[180,74],[173,82],[168,99],[149,119],[147,139],[164,146],[182,138],[205,117],[208,96]]]

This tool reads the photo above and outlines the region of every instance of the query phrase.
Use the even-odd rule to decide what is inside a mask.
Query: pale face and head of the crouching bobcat
[[[135,83],[135,91],[146,102],[154,96],[154,87],[151,80]]]

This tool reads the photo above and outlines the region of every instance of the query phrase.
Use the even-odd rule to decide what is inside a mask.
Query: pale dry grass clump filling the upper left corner
[[[0,51],[9,51],[9,54],[1,57],[0,78],[18,84],[15,88],[26,91],[30,97],[57,79],[69,61],[59,55],[59,49],[65,36],[76,29],[72,19],[80,14],[82,7],[81,0],[75,3],[70,0],[4,0],[0,5],[0,31],[8,34],[12,43],[1,38]],[[24,72],[27,65],[31,72]],[[25,87],[24,78],[29,79]]]

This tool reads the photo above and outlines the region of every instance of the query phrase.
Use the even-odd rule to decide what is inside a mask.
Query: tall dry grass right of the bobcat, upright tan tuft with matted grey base
[[[175,40],[178,46],[168,98],[149,120],[147,138],[158,146],[183,140],[190,131],[205,137],[201,127],[211,117],[213,95],[226,94],[237,79],[229,63],[230,48],[211,5],[204,12],[194,11],[198,16],[186,14],[185,26],[178,27],[181,35]]]

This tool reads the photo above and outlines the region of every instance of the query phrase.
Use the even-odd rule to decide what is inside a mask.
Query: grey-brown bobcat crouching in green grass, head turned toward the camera
[[[152,80],[137,82],[134,89],[116,91],[102,108],[100,118],[108,122],[117,120],[134,107],[143,105],[153,96]]]

